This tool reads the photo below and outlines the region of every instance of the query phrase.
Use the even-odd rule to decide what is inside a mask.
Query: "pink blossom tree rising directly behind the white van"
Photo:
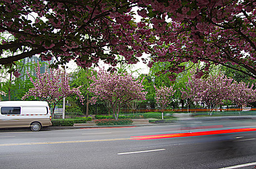
[[[81,102],[84,101],[84,97],[79,90],[81,86],[71,88],[69,85],[69,74],[65,71],[50,69],[49,72],[40,73],[40,64],[37,65],[35,71],[37,76],[35,79],[27,72],[34,87],[30,88],[22,99],[33,98],[47,101],[52,108],[52,117],[54,116],[54,109],[61,99],[75,94]]]

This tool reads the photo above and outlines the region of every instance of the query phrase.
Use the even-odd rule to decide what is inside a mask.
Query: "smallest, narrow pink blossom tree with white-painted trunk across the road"
[[[159,88],[155,88],[155,100],[156,103],[160,105],[161,111],[162,111],[162,119],[164,119],[164,111],[166,107],[171,103],[172,96],[176,92],[176,90],[173,90],[172,86],[166,87],[166,86],[160,86]]]

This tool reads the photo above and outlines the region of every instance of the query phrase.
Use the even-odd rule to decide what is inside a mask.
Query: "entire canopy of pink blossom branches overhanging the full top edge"
[[[40,54],[55,64],[74,59],[91,67],[104,60],[115,66],[116,55],[136,63],[143,53],[152,62],[167,61],[166,72],[183,71],[183,62],[203,61],[198,76],[220,64],[256,78],[255,0],[1,0],[1,41],[10,66]],[[136,8],[133,8],[136,7]],[[134,10],[135,12],[133,12]],[[136,14],[141,19],[135,20]],[[105,50],[108,50],[106,53]],[[145,61],[145,60],[144,60]],[[237,65],[232,67],[232,65]]]

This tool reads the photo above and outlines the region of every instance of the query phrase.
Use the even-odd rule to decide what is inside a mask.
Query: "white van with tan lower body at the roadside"
[[[39,131],[51,125],[46,101],[0,101],[0,128],[30,127]]]

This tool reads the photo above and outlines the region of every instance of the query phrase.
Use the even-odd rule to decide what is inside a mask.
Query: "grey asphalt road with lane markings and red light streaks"
[[[219,169],[241,164],[249,165],[241,169],[253,169],[256,131],[212,134],[237,128],[256,128],[256,123],[1,130],[0,169]]]

